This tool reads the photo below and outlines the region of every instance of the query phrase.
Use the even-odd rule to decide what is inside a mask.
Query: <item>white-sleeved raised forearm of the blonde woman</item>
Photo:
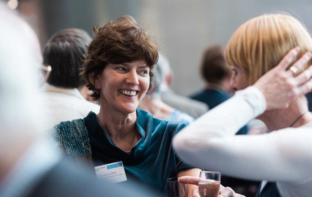
[[[234,135],[246,123],[263,113],[265,108],[265,99],[257,88],[250,86],[237,91],[231,99],[182,129],[174,137],[173,145],[179,155],[188,161],[186,154],[206,147],[213,137]]]

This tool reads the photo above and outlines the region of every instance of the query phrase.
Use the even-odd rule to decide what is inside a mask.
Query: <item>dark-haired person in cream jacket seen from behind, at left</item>
[[[100,111],[99,105],[87,101],[80,93],[86,97],[86,82],[79,73],[90,41],[86,31],[70,28],[55,33],[46,43],[43,63],[52,68],[40,89],[46,114],[51,117],[46,120],[46,128],[63,120],[84,118],[90,111]]]

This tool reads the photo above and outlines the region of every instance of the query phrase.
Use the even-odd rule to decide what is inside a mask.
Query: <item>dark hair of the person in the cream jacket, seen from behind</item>
[[[43,63],[52,68],[47,82],[63,88],[85,85],[79,73],[90,41],[91,37],[82,29],[63,29],[55,33],[43,50]]]

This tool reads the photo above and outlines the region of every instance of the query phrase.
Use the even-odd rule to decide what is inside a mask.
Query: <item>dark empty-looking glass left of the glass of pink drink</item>
[[[184,183],[179,183],[178,178],[170,178],[167,180],[168,196],[169,197],[187,197],[188,187]]]

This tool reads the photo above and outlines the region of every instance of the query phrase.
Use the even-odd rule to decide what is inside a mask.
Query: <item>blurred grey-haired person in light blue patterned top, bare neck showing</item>
[[[159,65],[163,63],[159,60],[163,57],[159,54],[158,62],[155,65],[156,70],[154,71],[154,84],[153,88],[149,90],[146,94],[145,99],[139,104],[139,108],[152,114],[153,117],[159,119],[165,119],[166,121],[178,122],[189,124],[194,121],[194,118],[183,113],[178,109],[172,108],[161,100],[160,97],[160,85],[163,83],[164,72],[162,66]]]

